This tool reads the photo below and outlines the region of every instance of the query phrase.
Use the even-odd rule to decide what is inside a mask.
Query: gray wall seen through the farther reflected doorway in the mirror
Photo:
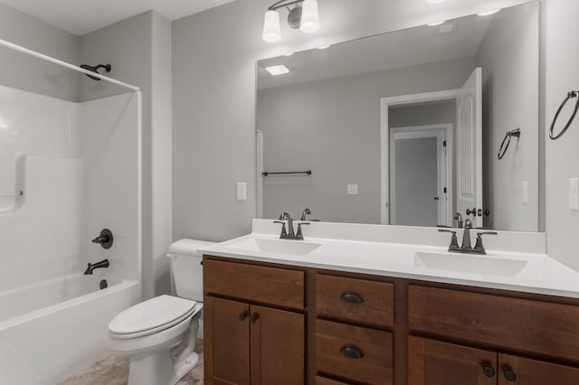
[[[395,161],[394,223],[404,226],[436,226],[438,209],[433,199],[438,194],[436,137],[396,140]]]

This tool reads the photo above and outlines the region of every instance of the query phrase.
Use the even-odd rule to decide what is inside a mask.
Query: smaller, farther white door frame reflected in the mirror
[[[452,218],[452,211],[453,211],[453,204],[452,204],[452,199],[453,199],[453,194],[452,194],[452,181],[454,178],[454,174],[452,173],[453,170],[453,158],[454,158],[454,154],[452,149],[454,148],[454,144],[453,144],[453,137],[454,137],[454,133],[453,133],[453,125],[451,123],[441,123],[441,124],[435,124],[435,125],[427,125],[427,126],[407,126],[407,127],[390,127],[390,129],[388,130],[389,132],[389,146],[390,148],[388,149],[389,152],[389,156],[388,156],[388,170],[389,170],[389,178],[392,179],[392,183],[390,183],[389,185],[389,190],[390,190],[390,214],[392,215],[390,218],[390,221],[392,221],[392,218],[396,217],[396,173],[395,173],[395,146],[394,146],[394,141],[395,141],[395,135],[396,134],[408,134],[408,136],[412,136],[413,138],[421,138],[421,137],[439,137],[439,135],[435,135],[436,134],[442,132],[444,134],[444,141],[446,141],[446,168],[445,168],[445,172],[446,172],[446,222],[443,223],[446,226],[450,226],[451,225],[451,218]],[[431,131],[432,133],[429,133],[428,131]],[[439,151],[437,148],[437,158],[439,156]],[[437,164],[437,169],[438,166],[440,164]],[[437,178],[438,181],[440,181],[440,178]],[[437,181],[437,185],[438,185],[438,181]],[[438,218],[438,209],[437,209],[437,222],[440,219]],[[395,224],[395,223],[393,223]],[[438,223],[437,223],[438,224]]]

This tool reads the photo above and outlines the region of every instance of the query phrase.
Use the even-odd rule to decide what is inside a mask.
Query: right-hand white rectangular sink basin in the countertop
[[[414,254],[414,266],[472,274],[514,277],[527,266],[527,261],[470,254],[417,252]]]

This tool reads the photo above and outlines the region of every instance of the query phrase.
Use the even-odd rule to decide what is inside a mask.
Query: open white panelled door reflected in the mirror
[[[457,210],[474,227],[482,227],[482,69],[472,72],[456,99],[457,108]]]

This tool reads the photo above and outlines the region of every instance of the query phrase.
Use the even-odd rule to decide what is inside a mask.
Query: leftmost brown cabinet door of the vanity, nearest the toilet
[[[204,373],[208,385],[249,385],[250,306],[204,297]]]

